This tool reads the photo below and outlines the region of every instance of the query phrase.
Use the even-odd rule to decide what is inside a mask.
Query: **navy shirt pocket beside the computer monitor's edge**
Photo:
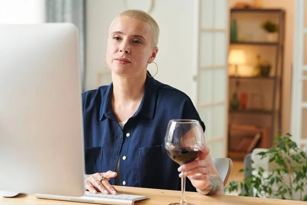
[[[103,147],[85,148],[85,173],[95,174],[101,172]]]

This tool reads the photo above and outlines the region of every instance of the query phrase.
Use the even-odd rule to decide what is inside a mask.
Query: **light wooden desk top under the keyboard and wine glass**
[[[116,187],[116,186],[115,186]],[[116,187],[119,193],[128,194],[139,194],[146,195],[149,199],[137,201],[135,205],[157,205],[165,204],[168,205],[171,202],[180,201],[180,191],[169,191],[169,190],[157,190],[157,189],[144,189],[144,188],[133,188],[133,187]],[[187,202],[191,202],[198,205],[256,205],[256,204],[270,204],[270,205],[306,205],[305,201],[289,201],[280,199],[264,199],[264,198],[252,198],[243,196],[229,196],[229,195],[214,195],[204,196],[199,193],[186,192]],[[0,197],[1,205],[18,205],[18,204],[35,204],[35,205],[51,205],[51,204],[63,204],[63,205],[84,205],[93,203],[78,203],[69,201],[57,201],[47,199],[37,199],[34,195],[21,195],[16,198],[3,198]]]

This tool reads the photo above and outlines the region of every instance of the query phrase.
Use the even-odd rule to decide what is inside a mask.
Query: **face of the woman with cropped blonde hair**
[[[151,47],[151,26],[127,16],[117,17],[107,41],[106,61],[119,75],[143,75],[155,59],[158,48]]]

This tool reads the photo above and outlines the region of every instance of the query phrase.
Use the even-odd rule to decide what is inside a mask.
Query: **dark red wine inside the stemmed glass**
[[[168,156],[177,163],[189,163],[200,156],[201,151],[198,148],[172,147],[167,148]]]

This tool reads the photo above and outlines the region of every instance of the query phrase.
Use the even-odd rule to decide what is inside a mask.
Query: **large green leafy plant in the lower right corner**
[[[225,193],[237,191],[239,196],[307,201],[307,154],[291,140],[290,134],[275,137],[273,147],[258,155],[269,158],[269,163],[275,165],[272,171],[253,168],[252,174],[240,183],[230,181]],[[247,171],[250,169],[239,170]]]

